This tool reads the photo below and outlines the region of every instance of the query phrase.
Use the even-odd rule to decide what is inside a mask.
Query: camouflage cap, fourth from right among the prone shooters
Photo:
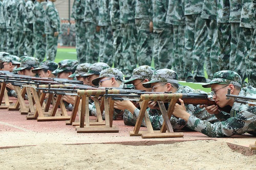
[[[96,79],[93,79],[92,80],[92,83],[95,85],[95,86],[98,86],[99,85],[99,79],[101,79],[102,77],[113,77],[117,80],[120,80],[121,82],[123,82],[123,74],[122,72],[117,69],[117,68],[106,68],[102,71],[100,71],[100,75],[98,78]]]

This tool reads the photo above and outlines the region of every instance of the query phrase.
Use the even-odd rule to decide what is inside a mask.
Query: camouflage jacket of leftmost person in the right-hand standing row
[[[85,8],[86,0],[75,0],[72,7],[71,17],[74,19],[83,19]]]

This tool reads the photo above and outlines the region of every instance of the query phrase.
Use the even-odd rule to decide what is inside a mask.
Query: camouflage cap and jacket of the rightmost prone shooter
[[[224,70],[214,74],[210,83],[202,85],[210,87],[211,84],[233,84],[241,87],[241,77],[234,71]],[[256,97],[256,89],[253,87],[242,88],[239,96]],[[248,132],[256,136],[256,108],[248,104],[234,102],[229,115],[220,114],[216,117],[221,121],[210,124],[191,115],[187,127],[201,132],[210,137],[225,137]]]

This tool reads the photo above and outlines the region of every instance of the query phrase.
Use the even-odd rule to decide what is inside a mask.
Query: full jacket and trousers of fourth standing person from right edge
[[[212,46],[213,38],[217,35],[217,0],[204,0],[203,9],[201,12],[201,18],[205,19],[207,27],[207,39],[205,41],[205,66],[208,79],[211,79],[214,75],[212,69],[217,66],[217,56],[211,56],[211,50],[215,50],[215,46]],[[218,50],[218,48],[217,48]],[[214,54],[214,53],[212,53]]]

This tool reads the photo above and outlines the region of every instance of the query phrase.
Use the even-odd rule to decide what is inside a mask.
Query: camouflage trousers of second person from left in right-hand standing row
[[[86,62],[96,63],[99,60],[99,32],[96,32],[96,24],[92,22],[85,23],[87,28],[87,52]]]

